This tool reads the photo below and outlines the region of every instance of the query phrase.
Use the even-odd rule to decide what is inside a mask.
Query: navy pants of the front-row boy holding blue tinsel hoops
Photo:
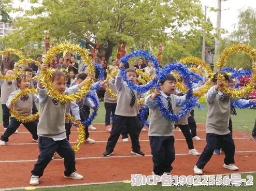
[[[175,159],[174,136],[149,136],[149,142],[153,156],[153,172],[162,175],[164,172],[172,171],[172,163]]]

